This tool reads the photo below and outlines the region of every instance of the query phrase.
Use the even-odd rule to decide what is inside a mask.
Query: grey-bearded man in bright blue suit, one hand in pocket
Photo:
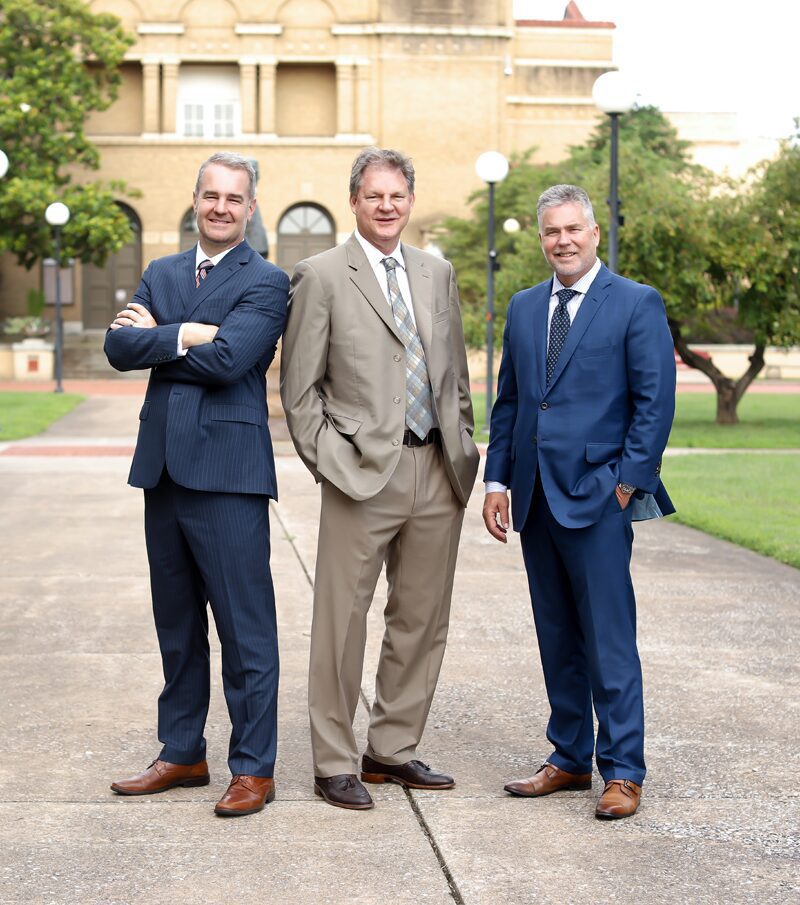
[[[594,751],[605,781],[595,814],[616,819],[636,812],[645,776],[631,521],[675,511],[659,477],[675,359],[659,294],[598,260],[586,192],[553,186],[537,214],[554,275],[508,307],[483,518],[505,543],[510,489],[554,750],[505,788],[589,789]]]

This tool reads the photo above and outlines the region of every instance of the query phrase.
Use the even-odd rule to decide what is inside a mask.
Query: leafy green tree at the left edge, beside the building
[[[133,42],[111,15],[82,0],[3,0],[0,6],[0,148],[9,172],[0,181],[0,249],[31,268],[53,253],[44,211],[53,201],[71,212],[66,256],[103,264],[130,238],[114,204],[121,183],[89,181],[97,149],[87,139],[89,113],[117,95],[118,68]]]

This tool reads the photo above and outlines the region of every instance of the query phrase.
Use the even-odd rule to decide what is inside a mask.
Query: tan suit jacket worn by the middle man
[[[443,462],[466,506],[479,454],[455,274],[441,258],[402,250]],[[289,299],[281,399],[294,445],[318,482],[369,499],[397,467],[405,430],[405,350],[391,307],[355,236],[301,261]]]

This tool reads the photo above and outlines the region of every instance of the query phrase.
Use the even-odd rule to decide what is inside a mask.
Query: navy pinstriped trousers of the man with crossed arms
[[[159,756],[175,764],[206,756],[210,603],[232,723],[228,765],[233,774],[272,776],[278,640],[269,499],[189,490],[166,470],[144,497],[153,615],[164,669]]]

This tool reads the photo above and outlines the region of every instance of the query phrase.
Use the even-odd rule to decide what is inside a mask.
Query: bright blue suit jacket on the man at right
[[[620,481],[652,494],[648,502],[660,514],[674,512],[659,477],[675,410],[675,357],[661,296],[602,266],[548,387],[551,291],[548,280],[509,304],[484,480],[511,489],[517,531],[537,473],[567,528],[596,523]],[[634,511],[634,518],[654,511]]]

